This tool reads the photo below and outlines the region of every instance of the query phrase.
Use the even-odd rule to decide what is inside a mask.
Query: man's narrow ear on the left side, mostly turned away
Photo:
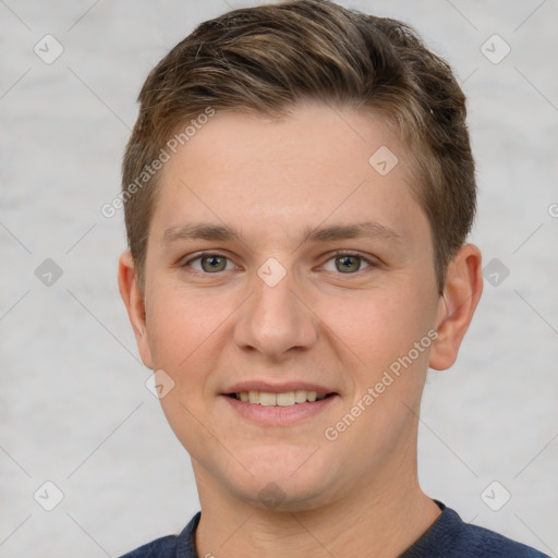
[[[137,349],[143,363],[153,369],[151,352],[147,337],[144,296],[137,286],[134,259],[130,252],[124,252],[118,263],[118,286],[124,301],[128,317],[134,330]]]

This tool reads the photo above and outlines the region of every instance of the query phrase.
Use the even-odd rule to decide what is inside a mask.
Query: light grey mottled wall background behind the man
[[[456,69],[478,165],[471,240],[509,269],[485,283],[456,366],[429,373],[423,487],[557,556],[558,4],[340,3],[411,23]],[[198,510],[118,292],[123,216],[100,207],[119,192],[149,69],[196,24],[248,4],[0,0],[1,558],[116,557]],[[34,52],[47,34],[64,49],[50,64]],[[511,48],[497,64],[485,53],[504,53],[499,39],[482,51],[494,34]],[[63,272],[51,287],[35,275],[46,258]],[[34,499],[43,487],[53,502],[46,481],[63,493],[50,512]],[[499,511],[481,497],[494,481],[511,494]],[[485,494],[501,502],[501,488]]]

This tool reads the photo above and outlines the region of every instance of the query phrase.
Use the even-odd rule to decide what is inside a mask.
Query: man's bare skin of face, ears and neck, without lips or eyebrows
[[[380,146],[399,158],[386,175],[368,162]],[[481,253],[459,251],[440,295],[412,181],[380,119],[320,104],[282,121],[218,112],[162,169],[144,292],[129,252],[119,284],[143,362],[174,381],[161,404],[192,458],[199,556],[395,557],[438,517],[417,481],[417,414],[428,366],[453,364],[476,308]],[[305,227],[369,220],[399,240],[302,243]],[[162,244],[167,229],[193,221],[229,225],[241,240]],[[206,250],[227,259],[194,260]],[[257,275],[270,257],[286,271],[275,287]],[[430,330],[429,348],[327,439]],[[222,396],[254,379],[305,380],[338,396],[296,425],[263,426]],[[258,497],[269,483],[275,508]]]

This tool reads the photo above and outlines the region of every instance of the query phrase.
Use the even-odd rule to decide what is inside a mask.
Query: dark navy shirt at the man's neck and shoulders
[[[441,513],[399,558],[549,558],[494,531],[464,523],[456,511],[435,501]],[[201,558],[194,544],[201,517],[197,512],[180,535],[157,538],[120,558]]]

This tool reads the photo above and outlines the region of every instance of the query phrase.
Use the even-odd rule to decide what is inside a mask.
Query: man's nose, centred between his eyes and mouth
[[[266,271],[270,272],[266,276]],[[277,272],[272,266],[263,266],[259,275],[254,276],[254,291],[242,305],[234,341],[243,350],[255,350],[280,361],[294,350],[303,351],[316,343],[319,319],[304,300],[304,290],[293,274],[281,271],[284,276],[276,282]]]

